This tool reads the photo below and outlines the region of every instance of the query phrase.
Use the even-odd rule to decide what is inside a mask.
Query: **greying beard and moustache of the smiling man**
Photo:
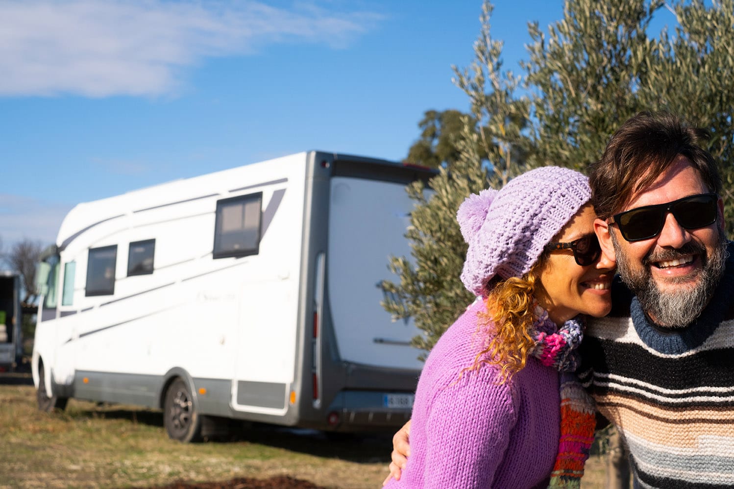
[[[611,234],[614,252],[617,254],[617,271],[630,290],[637,296],[642,310],[655,324],[662,327],[686,327],[700,316],[711,300],[713,291],[719,285],[724,274],[724,262],[727,259],[727,240],[724,231],[719,228],[719,242],[708,256],[706,248],[699,242],[691,240],[677,250],[666,249],[653,254],[653,250],[642,259],[640,269],[632,269],[628,256],[620,250],[615,233]],[[702,261],[702,269],[693,285],[686,283],[690,277],[682,277],[679,284],[669,280],[673,286],[666,290],[658,289],[653,279],[650,266],[656,261],[675,260],[686,255],[698,255]]]

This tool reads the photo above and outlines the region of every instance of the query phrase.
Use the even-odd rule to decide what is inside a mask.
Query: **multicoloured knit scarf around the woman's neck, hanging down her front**
[[[561,376],[561,438],[548,488],[581,488],[596,427],[594,399],[586,394],[575,374],[584,322],[576,316],[557,327],[544,309],[536,306],[535,313],[538,319],[532,336],[536,347],[531,355],[543,365],[558,369]]]

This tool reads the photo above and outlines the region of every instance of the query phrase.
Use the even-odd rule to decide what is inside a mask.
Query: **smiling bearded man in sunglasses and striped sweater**
[[[589,175],[604,253],[622,283],[589,322],[579,376],[631,453],[636,485],[734,485],[734,259],[708,134],[643,112]],[[406,452],[396,434],[393,474]]]

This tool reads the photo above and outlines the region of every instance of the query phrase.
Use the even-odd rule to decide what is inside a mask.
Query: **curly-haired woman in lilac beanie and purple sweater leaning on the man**
[[[614,275],[590,195],[581,173],[542,167],[462,203],[461,278],[479,297],[426,360],[388,487],[579,486],[595,425],[573,375],[579,314],[608,314]]]

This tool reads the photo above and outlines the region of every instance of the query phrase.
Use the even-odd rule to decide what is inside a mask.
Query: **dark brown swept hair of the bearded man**
[[[601,159],[589,167],[597,216],[608,219],[622,209],[679,155],[688,158],[709,192],[719,194],[722,178],[716,161],[699,145],[708,139],[708,131],[688,126],[668,112],[640,112],[628,119],[611,137]]]

